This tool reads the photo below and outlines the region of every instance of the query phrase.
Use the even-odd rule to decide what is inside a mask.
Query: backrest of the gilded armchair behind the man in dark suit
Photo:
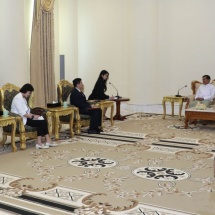
[[[73,90],[74,86],[72,83],[66,80],[61,80],[57,85],[57,96],[58,102],[63,104],[64,101],[67,101],[67,98],[71,91]]]

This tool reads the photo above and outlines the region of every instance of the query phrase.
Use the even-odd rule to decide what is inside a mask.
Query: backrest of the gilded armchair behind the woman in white
[[[20,88],[14,84],[7,83],[0,89],[0,110],[11,110],[13,98],[19,93]],[[29,98],[29,106],[33,107],[33,94]]]

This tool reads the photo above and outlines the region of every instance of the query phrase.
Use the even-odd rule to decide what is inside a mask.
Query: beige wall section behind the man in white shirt
[[[190,82],[215,79],[215,1],[161,0],[159,4],[159,98],[189,94]]]

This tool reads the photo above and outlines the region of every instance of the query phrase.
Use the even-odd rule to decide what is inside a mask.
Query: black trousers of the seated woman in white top
[[[27,118],[26,125],[37,127],[37,136],[45,136],[46,134],[49,134],[46,120],[32,120]]]

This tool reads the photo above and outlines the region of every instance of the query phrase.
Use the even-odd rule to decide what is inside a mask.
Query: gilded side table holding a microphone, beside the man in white
[[[176,97],[176,96],[164,96],[162,105],[163,105],[163,119],[166,117],[166,102],[170,102],[172,106],[172,116],[174,116],[174,103],[179,103],[179,120],[181,120],[181,111],[183,102],[185,101],[185,96],[182,97]]]

